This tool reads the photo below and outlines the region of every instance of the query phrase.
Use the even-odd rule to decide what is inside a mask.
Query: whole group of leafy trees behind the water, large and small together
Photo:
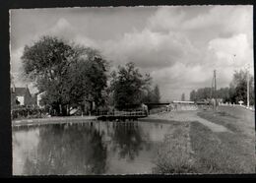
[[[93,103],[96,108],[113,105],[118,109],[142,102],[159,102],[160,90],[152,89],[152,78],[143,76],[134,63],[119,66],[110,75],[108,62],[93,48],[42,36],[22,56],[24,73],[44,91],[41,102],[58,115],[68,115],[71,107]],[[110,85],[108,84],[110,80]]]

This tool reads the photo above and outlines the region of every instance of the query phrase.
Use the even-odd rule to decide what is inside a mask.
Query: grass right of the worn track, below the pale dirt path
[[[213,133],[198,122],[190,126],[191,148],[200,173],[255,173],[253,146],[233,133]]]

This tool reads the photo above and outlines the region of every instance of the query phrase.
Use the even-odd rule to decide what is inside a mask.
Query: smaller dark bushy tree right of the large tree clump
[[[111,77],[114,105],[118,109],[140,105],[152,80],[149,74],[143,76],[132,62],[125,67],[119,66],[118,72],[113,71]]]

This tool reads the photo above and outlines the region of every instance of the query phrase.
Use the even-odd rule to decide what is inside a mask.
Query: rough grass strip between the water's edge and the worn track
[[[196,173],[194,159],[190,154],[189,124],[180,123],[171,128],[160,145],[154,173],[183,174]]]

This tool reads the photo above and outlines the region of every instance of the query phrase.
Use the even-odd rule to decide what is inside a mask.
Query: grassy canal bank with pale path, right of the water
[[[161,143],[154,173],[255,173],[253,121],[210,110],[161,113],[142,120],[173,125]]]

